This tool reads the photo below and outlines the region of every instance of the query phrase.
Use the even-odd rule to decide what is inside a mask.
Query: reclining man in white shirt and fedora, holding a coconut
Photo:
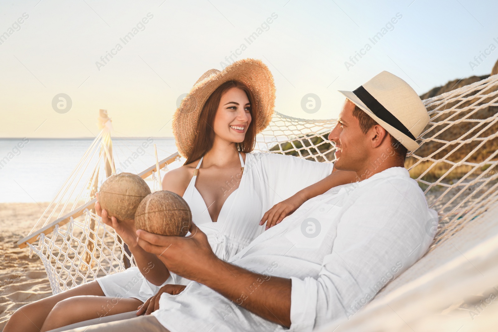
[[[427,111],[385,71],[342,93],[347,100],[329,135],[334,167],[355,171],[360,182],[305,202],[230,262],[213,254],[195,225],[188,238],[138,230],[142,248],[193,281],[178,295],[164,293],[151,316],[81,331],[311,331],[350,318],[415,263],[433,240],[427,229],[437,214],[403,166]]]

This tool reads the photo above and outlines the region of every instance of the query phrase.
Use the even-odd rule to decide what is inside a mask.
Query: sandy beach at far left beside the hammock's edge
[[[27,235],[48,203],[0,203],[0,330],[19,307],[52,295],[40,258],[17,241]]]

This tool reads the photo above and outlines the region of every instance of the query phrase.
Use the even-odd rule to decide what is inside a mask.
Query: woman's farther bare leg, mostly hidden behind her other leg
[[[81,295],[105,296],[99,283],[91,281],[63,293],[52,295],[20,307],[12,314],[3,332],[39,332],[48,314],[58,302]]]

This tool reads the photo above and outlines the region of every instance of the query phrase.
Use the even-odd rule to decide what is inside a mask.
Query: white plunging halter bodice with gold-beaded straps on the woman
[[[244,173],[244,159],[242,158],[240,152],[239,152],[239,158],[241,159],[241,170]],[[230,207],[234,202],[236,192],[239,190],[239,188],[234,190],[228,196],[227,200],[225,201],[225,203],[223,203],[223,206],[220,210],[218,220],[216,222],[213,222],[211,216],[209,215],[206,202],[204,202],[204,199],[202,198],[201,194],[195,187],[195,181],[197,179],[197,174],[199,173],[199,168],[201,167],[203,159],[204,157],[202,157],[201,160],[199,160],[199,164],[197,164],[197,167],[194,170],[194,176],[190,180],[190,183],[188,184],[188,187],[185,190],[185,193],[183,194],[183,199],[189,205],[190,211],[192,211],[192,221],[194,221],[196,225],[202,224],[208,226],[207,224],[212,224],[209,226],[214,226],[214,228],[220,229],[221,225],[225,223],[227,219],[228,212],[230,211]]]

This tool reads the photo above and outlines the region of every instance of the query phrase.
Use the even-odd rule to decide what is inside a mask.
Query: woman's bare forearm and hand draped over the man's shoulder
[[[289,197],[285,201],[275,204],[263,215],[263,218],[261,218],[259,224],[262,225],[266,221],[266,230],[282,221],[288,215],[292,214],[310,198],[321,195],[330,188],[356,181],[358,181],[356,172],[340,171],[334,168],[332,173],[326,178],[304,188],[301,191],[298,191],[294,196]]]

